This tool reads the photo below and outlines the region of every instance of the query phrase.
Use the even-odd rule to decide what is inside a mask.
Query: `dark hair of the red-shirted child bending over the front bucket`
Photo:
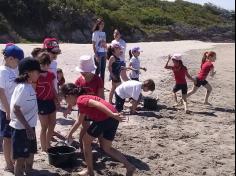
[[[61,94],[65,97],[67,95],[80,96],[86,93],[84,88],[77,87],[73,83],[65,84],[61,87]]]

